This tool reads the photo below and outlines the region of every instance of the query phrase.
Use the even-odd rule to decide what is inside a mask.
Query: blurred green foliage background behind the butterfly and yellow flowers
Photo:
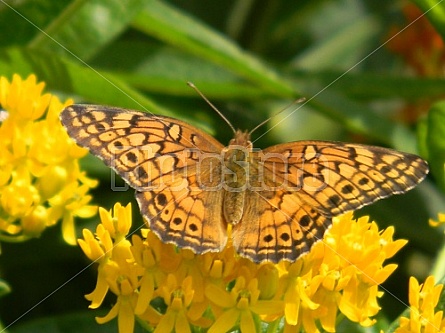
[[[414,0],[442,36],[445,4]],[[407,278],[434,269],[443,232],[428,218],[445,211],[445,96],[443,77],[416,77],[385,42],[409,1],[157,1],[23,0],[0,3],[0,75],[35,73],[61,99],[107,104],[180,118],[221,142],[233,133],[186,85],[192,81],[235,127],[251,129],[255,144],[301,139],[364,142],[421,153],[432,176],[407,195],[379,202],[371,214],[381,228],[396,226],[409,244],[384,285],[380,327],[407,304]],[[434,8],[432,8],[435,6]],[[409,29],[409,28],[408,28]],[[398,38],[398,37],[396,37]],[[401,37],[400,37],[401,38]],[[291,105],[306,97],[307,103]],[[399,116],[404,105],[436,103],[418,123]],[[263,136],[263,134],[265,134]],[[132,190],[110,190],[110,171],[83,161],[101,180],[95,202],[111,208]],[[119,183],[118,184],[122,184]],[[142,221],[134,205],[136,226]],[[94,228],[97,220],[79,223]],[[10,332],[110,332],[93,321],[83,295],[95,270],[53,228],[26,244],[2,244],[1,277],[11,292],[0,301]],[[5,285],[0,288],[6,292]],[[111,306],[110,300],[105,305]],[[348,332],[360,331],[355,326]],[[377,331],[377,328],[376,328]]]

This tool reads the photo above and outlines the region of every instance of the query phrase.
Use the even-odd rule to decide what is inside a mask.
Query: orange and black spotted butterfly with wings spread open
[[[224,146],[177,119],[100,105],[66,107],[60,119],[136,190],[149,228],[194,253],[231,241],[253,262],[295,261],[334,216],[405,193],[428,173],[416,155],[331,141],[256,149],[235,131]]]

